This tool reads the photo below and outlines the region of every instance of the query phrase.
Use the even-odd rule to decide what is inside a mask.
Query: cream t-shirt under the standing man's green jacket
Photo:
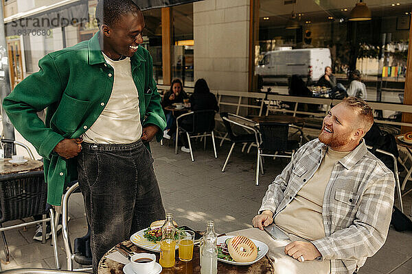
[[[103,53],[114,69],[111,97],[95,123],[83,134],[84,142],[130,144],[141,138],[139,95],[133,82],[130,58],[113,61]]]

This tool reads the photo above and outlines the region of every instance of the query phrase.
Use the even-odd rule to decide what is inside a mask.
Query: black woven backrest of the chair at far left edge
[[[46,200],[43,171],[0,176],[0,223],[45,214]]]

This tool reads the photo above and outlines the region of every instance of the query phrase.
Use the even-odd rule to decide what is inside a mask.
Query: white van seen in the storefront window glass
[[[260,84],[287,83],[292,75],[314,82],[325,73],[326,66],[332,66],[328,48],[268,51],[255,67],[255,75]]]

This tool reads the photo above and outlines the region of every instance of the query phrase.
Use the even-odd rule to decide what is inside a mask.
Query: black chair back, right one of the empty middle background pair
[[[262,134],[263,151],[287,151],[289,125],[285,123],[261,122],[259,123],[260,134]]]

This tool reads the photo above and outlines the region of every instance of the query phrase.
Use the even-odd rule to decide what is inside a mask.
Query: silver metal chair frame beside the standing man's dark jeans
[[[86,260],[84,256],[80,255],[79,253],[76,253],[71,249],[71,243],[70,243],[70,237],[69,237],[69,228],[67,226],[68,222],[68,206],[69,206],[69,198],[70,195],[75,192],[79,187],[79,183],[76,182],[76,184],[73,184],[67,190],[63,197],[63,202],[62,202],[62,235],[63,235],[63,242],[65,244],[65,251],[66,251],[66,260],[67,260],[67,269],[69,271],[90,271],[93,268],[92,267],[85,267],[83,269],[73,269],[73,262],[77,262],[78,264],[86,265],[89,263],[91,265],[91,260]],[[89,232],[88,232],[89,234]],[[75,244],[76,245],[76,244]]]

